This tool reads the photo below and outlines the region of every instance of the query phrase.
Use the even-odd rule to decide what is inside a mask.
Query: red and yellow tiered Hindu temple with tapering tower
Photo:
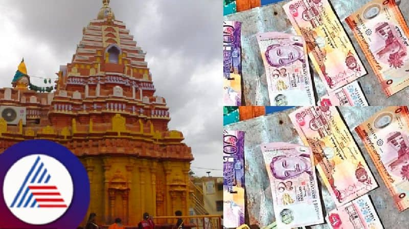
[[[98,224],[119,217],[136,225],[144,212],[187,215],[193,156],[183,134],[168,129],[169,108],[155,95],[146,53],[109,0],[82,32],[53,92],[29,89],[24,61],[12,87],[0,89],[0,151],[30,139],[70,149],[88,172],[88,214]]]

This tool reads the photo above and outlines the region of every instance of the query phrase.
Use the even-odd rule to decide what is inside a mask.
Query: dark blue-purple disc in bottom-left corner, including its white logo
[[[89,205],[89,180],[79,159],[46,140],[15,144],[0,154],[0,228],[76,228]]]

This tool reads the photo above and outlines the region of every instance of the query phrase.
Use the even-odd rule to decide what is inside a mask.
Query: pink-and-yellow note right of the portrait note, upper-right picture
[[[284,11],[328,93],[367,74],[328,0],[293,0]]]

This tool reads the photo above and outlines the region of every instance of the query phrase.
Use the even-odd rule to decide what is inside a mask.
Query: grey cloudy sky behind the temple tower
[[[55,78],[101,6],[102,0],[1,0],[0,87],[11,86],[22,57],[29,75]],[[192,147],[192,170],[221,176],[221,1],[111,0],[110,6],[147,52],[156,95],[170,107],[169,128],[183,131]]]

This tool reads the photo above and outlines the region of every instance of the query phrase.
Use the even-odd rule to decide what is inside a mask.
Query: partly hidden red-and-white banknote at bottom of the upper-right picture
[[[338,88],[320,99],[321,106],[368,106],[358,81]]]

